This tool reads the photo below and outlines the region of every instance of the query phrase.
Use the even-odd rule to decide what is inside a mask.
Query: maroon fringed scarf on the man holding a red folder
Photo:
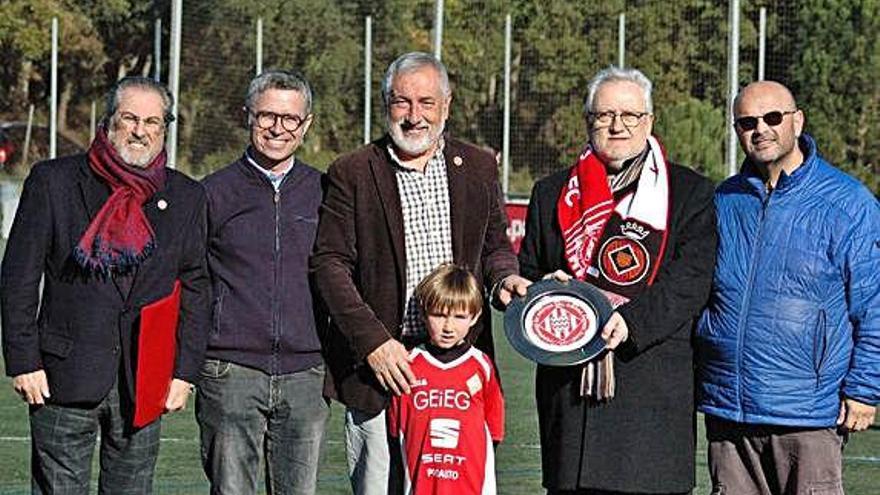
[[[88,159],[92,172],[110,186],[110,197],[86,228],[74,258],[90,273],[128,273],[155,247],[156,236],[142,207],[165,186],[165,150],[144,168],[130,166],[100,129]]]

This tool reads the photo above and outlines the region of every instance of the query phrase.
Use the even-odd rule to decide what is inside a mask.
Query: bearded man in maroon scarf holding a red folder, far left
[[[165,166],[171,108],[164,86],[122,79],[88,153],[39,163],[25,182],[0,304],[6,373],[30,405],[34,493],[88,493],[99,434],[99,492],[150,493],[159,421],[135,414],[135,394],[155,378],[140,366],[173,363],[173,379],[153,385],[159,412],[163,396],[164,410],[182,409],[199,376],[205,194]],[[179,311],[163,315],[177,319],[166,325],[176,350],[153,354],[141,309],[171,294]]]

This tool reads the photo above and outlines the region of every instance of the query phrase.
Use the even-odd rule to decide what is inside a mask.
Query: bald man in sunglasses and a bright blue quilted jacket
[[[880,206],[781,84],[750,84],[734,114],[746,160],[715,193],[697,329],[713,493],[842,494],[843,435],[880,402]]]

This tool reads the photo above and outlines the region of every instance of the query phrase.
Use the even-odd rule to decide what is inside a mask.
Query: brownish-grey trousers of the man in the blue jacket
[[[733,423],[706,416],[713,495],[842,495],[836,428]]]

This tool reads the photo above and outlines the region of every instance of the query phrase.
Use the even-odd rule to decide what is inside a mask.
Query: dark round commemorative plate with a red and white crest
[[[504,313],[504,332],[514,349],[548,366],[589,361],[605,349],[601,330],[611,303],[599,289],[579,280],[541,280],[529,286]]]

